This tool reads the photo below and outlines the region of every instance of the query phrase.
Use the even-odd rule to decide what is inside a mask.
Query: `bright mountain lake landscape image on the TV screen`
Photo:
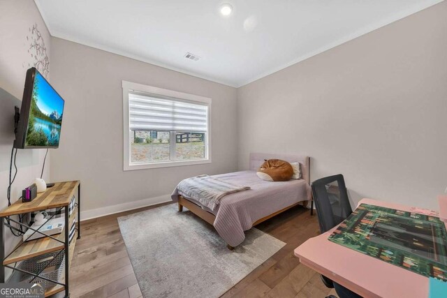
[[[64,100],[36,72],[25,147],[59,147],[63,112]]]

